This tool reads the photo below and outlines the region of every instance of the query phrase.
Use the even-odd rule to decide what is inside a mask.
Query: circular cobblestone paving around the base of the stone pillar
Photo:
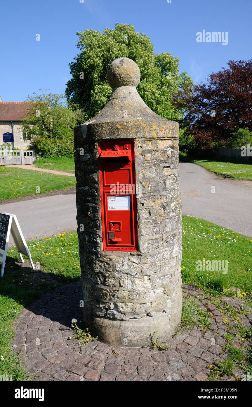
[[[226,324],[223,313],[205,299],[204,291],[183,285],[183,297],[193,299],[199,308],[209,312],[211,329],[202,328],[180,331],[166,341],[170,350],[150,347],[118,348],[99,341],[86,346],[73,339],[71,320],[82,319],[80,282],[56,288],[36,300],[19,314],[15,321],[16,336],[13,350],[24,355],[25,367],[32,380],[40,381],[204,381],[218,361],[227,357],[223,346]],[[226,304],[239,309],[243,306],[248,315],[239,314],[244,326],[252,324],[252,310],[236,297],[222,296]],[[223,306],[222,306],[223,307]],[[236,323],[230,316],[228,323],[235,335]],[[37,345],[39,338],[40,344]],[[234,339],[234,346],[246,346],[246,340]],[[242,374],[238,368],[235,374]],[[217,379],[216,379],[217,380]],[[220,379],[218,379],[220,380]],[[221,380],[236,380],[225,376]]]

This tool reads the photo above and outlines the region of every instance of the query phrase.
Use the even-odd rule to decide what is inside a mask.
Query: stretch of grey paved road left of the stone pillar
[[[77,229],[75,192],[0,205],[0,212],[17,215],[26,241]]]

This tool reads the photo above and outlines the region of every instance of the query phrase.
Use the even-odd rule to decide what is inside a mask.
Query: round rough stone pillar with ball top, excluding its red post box
[[[170,338],[181,319],[179,126],[142,101],[131,59],[115,59],[107,79],[108,103],[74,129],[83,317],[100,341],[134,347]],[[104,140],[134,140],[138,252],[103,250],[97,142]]]

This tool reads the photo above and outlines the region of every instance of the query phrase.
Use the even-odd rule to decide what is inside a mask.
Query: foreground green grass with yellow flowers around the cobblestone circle
[[[17,252],[9,252],[6,259],[4,277],[0,279],[0,374],[12,374],[13,380],[25,379],[26,373],[20,365],[20,358],[11,351],[13,336],[13,319],[24,306],[34,302],[43,293],[54,289],[56,284],[47,282],[46,277],[54,277],[57,284],[67,284],[80,279],[80,257],[76,232],[49,236],[39,241],[28,243],[32,260],[41,263],[45,277],[32,278],[32,269],[23,269],[15,264],[19,259]],[[245,300],[252,291],[252,241],[245,236],[213,225],[193,217],[183,217],[183,256],[182,278],[185,284],[192,284],[203,289],[237,287],[245,292]],[[228,274],[221,271],[197,271],[196,261],[227,259]],[[25,271],[24,271],[25,270]],[[36,273],[35,273],[36,274]],[[219,284],[219,285],[218,285]],[[216,291],[216,292],[217,292]],[[16,312],[15,312],[16,311]],[[188,311],[188,307],[187,307]],[[194,313],[193,313],[194,314]],[[185,326],[189,326],[188,319]],[[208,318],[197,311],[196,323],[207,328]],[[195,324],[195,320],[191,322]],[[247,335],[248,336],[248,335]],[[231,343],[231,337],[227,343]],[[231,363],[232,362],[232,363]],[[230,366],[233,365],[233,361]],[[230,371],[230,366],[221,366],[221,370]],[[223,368],[223,369],[222,369]],[[222,372],[222,373],[223,373]]]

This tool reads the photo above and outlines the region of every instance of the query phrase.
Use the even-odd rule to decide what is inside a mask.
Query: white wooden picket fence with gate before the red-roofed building
[[[35,160],[33,150],[0,149],[0,165],[32,164]]]

